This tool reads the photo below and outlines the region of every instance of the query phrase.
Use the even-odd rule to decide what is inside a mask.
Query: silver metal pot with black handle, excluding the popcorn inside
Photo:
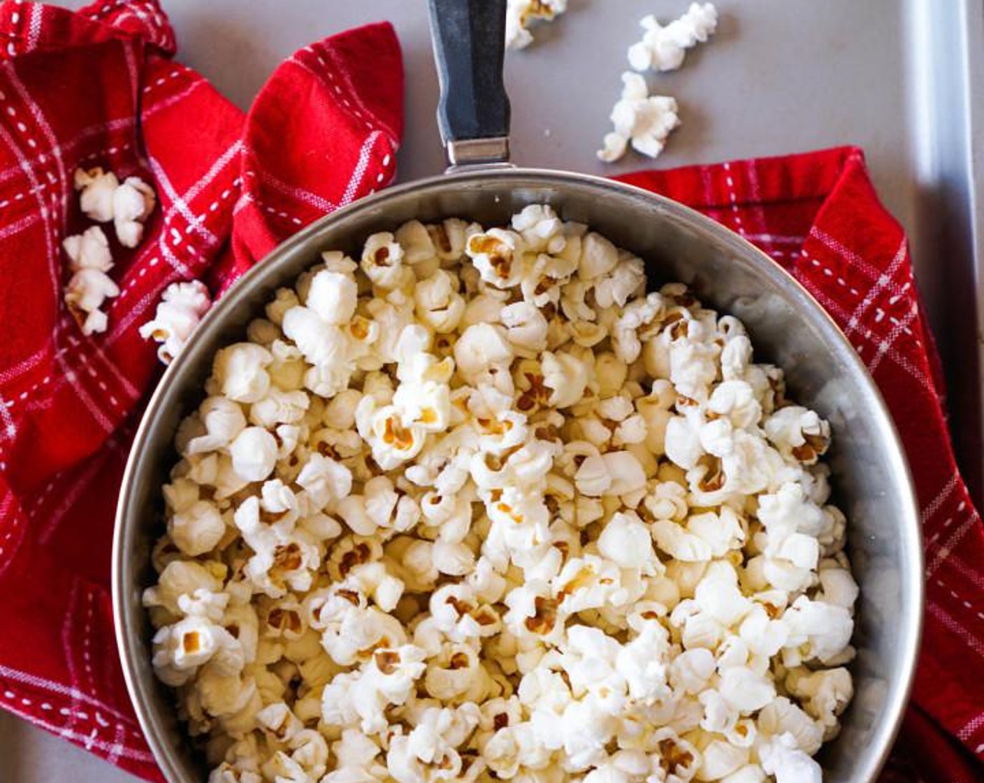
[[[747,241],[644,190],[583,174],[508,163],[509,103],[502,87],[506,0],[431,0],[442,84],[439,120],[449,173],[391,188],[339,209],[281,244],[215,305],[157,387],[120,493],[113,546],[113,609],[130,696],[170,783],[202,783],[204,760],[176,718],[173,693],[154,678],[153,628],[141,594],[162,533],[161,485],[177,459],[177,424],[202,399],[215,352],[319,253],[355,253],[370,233],[410,219],[466,217],[503,224],[548,203],[646,260],[651,285],[682,281],[709,306],[747,325],[757,359],[786,371],[791,396],[830,420],[834,499],[849,520],[861,587],[852,665],[856,695],[840,736],[822,750],[826,780],[874,781],[891,748],[915,669],[922,619],[919,515],[892,419],[871,376],[821,306]],[[478,100],[481,98],[481,100]]]

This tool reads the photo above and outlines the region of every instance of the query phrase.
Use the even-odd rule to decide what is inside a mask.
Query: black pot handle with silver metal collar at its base
[[[509,161],[506,0],[429,0],[441,82],[437,120],[452,166]]]

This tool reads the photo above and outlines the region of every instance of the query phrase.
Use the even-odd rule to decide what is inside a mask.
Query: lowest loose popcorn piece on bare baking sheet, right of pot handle
[[[666,139],[680,125],[675,98],[649,96],[646,80],[639,74],[622,74],[622,99],[612,108],[614,130],[605,134],[598,159],[614,163],[625,155],[629,144],[637,152],[656,158]]]

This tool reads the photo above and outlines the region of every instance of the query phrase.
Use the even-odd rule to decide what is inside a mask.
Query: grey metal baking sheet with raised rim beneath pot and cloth
[[[81,6],[85,0],[64,5]],[[313,38],[390,20],[406,68],[400,179],[443,170],[437,79],[424,0],[163,0],[183,62],[240,106]],[[672,19],[689,0],[570,0],[557,23],[507,58],[518,163],[611,174],[855,144],[907,229],[949,382],[958,456],[979,498],[979,313],[984,4],[979,0],[717,0],[718,33],[684,67],[652,75],[683,127],[655,163],[594,157],[609,129],[639,20]],[[10,726],[8,726],[10,724]],[[37,730],[0,719],[0,779],[134,780]]]

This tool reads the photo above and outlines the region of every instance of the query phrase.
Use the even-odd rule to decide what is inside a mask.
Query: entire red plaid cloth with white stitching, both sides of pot
[[[244,117],[169,58],[153,0],[78,13],[0,3],[0,706],[159,779],[112,635],[113,506],[162,289],[220,294],[278,241],[387,184],[400,139],[400,49],[385,25],[302,49]],[[80,164],[153,182],[160,207],[122,294],[85,337],[62,305],[59,245],[86,221]],[[984,767],[984,531],[953,463],[905,237],[854,149],[625,177],[744,234],[828,308],[872,369],[905,441],[929,602],[915,705],[885,781],[979,781]],[[976,757],[975,757],[976,756]]]

